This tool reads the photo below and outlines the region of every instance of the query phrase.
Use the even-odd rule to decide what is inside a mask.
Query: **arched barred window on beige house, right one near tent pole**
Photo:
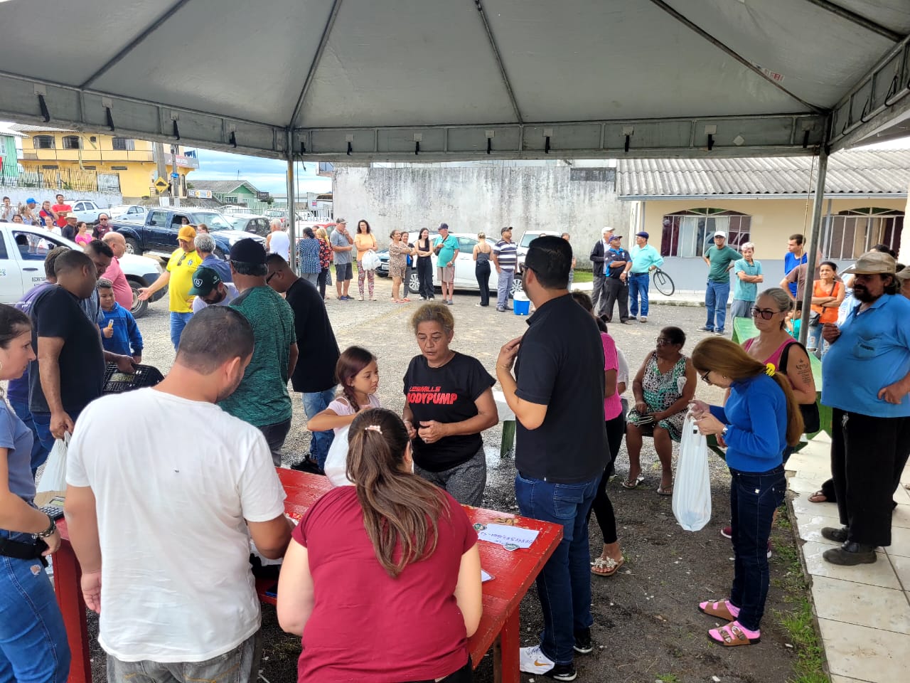
[[[858,259],[885,244],[897,251],[904,229],[904,212],[897,209],[849,209],[831,217],[823,243],[826,259]]]

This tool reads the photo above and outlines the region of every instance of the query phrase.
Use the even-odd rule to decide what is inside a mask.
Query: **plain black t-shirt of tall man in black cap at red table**
[[[569,294],[540,306],[528,326],[515,366],[515,393],[546,405],[547,414],[534,430],[517,421],[515,466],[526,479],[589,482],[610,462],[601,333]]]

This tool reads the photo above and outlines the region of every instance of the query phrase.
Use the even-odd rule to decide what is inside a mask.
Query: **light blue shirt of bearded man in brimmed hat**
[[[910,398],[888,403],[878,392],[910,372],[910,301],[885,294],[839,325],[841,335],[822,363],[822,403],[873,417],[910,415]]]

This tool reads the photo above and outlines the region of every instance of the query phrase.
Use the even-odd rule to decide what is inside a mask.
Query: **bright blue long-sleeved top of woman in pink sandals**
[[[827,359],[825,359],[827,362]],[[784,462],[787,446],[787,399],[766,374],[730,385],[730,398],[711,413],[730,428],[727,466],[741,472],[767,472]]]

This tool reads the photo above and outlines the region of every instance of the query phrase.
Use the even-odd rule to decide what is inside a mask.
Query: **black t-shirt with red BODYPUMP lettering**
[[[405,401],[414,415],[414,429],[421,422],[460,423],[478,414],[475,403],[480,394],[496,383],[476,358],[455,352],[450,362],[431,368],[427,359],[414,356],[404,375]],[[483,446],[480,434],[447,436],[436,443],[424,443],[420,436],[411,442],[414,462],[430,472],[442,472],[468,462]]]

